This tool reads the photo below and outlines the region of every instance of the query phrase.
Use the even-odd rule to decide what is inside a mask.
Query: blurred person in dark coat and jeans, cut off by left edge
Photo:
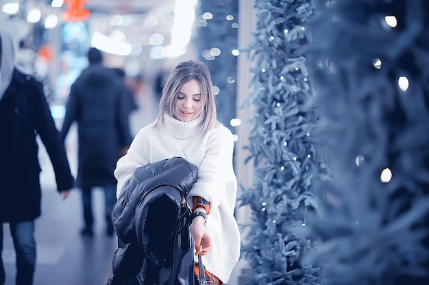
[[[63,198],[75,181],[42,83],[15,68],[14,52],[12,37],[0,29],[0,284],[5,282],[1,251],[7,222],[16,252],[16,284],[31,285],[36,266],[34,220],[40,216],[42,196],[37,135]]]

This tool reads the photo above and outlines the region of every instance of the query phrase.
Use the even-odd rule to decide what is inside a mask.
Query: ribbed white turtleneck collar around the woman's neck
[[[164,126],[162,131],[169,133],[176,139],[188,139],[202,133],[201,116],[195,118],[191,122],[182,122],[171,117],[168,114],[164,115]]]

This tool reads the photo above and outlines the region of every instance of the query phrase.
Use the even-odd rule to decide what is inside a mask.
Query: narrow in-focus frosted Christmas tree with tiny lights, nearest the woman
[[[255,165],[251,189],[241,204],[252,208],[243,256],[251,267],[245,284],[317,284],[319,268],[303,265],[314,241],[299,230],[315,212],[312,180],[326,175],[316,152],[317,109],[302,47],[312,1],[256,1],[257,23],[250,55],[257,60],[255,106],[249,161]]]

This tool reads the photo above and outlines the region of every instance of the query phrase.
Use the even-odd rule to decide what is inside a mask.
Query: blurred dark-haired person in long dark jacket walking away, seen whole
[[[103,187],[107,233],[113,234],[112,210],[116,200],[113,176],[116,163],[131,142],[124,84],[111,68],[103,66],[98,49],[88,51],[89,66],[71,85],[61,129],[65,140],[77,122],[78,169],[76,185],[82,189],[85,226],[82,234],[93,236],[92,189]]]

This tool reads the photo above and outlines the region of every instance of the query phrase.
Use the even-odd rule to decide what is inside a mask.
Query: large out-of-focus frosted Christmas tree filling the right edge
[[[429,2],[319,3],[308,51],[333,180],[315,187],[306,261],[321,284],[429,284]]]

